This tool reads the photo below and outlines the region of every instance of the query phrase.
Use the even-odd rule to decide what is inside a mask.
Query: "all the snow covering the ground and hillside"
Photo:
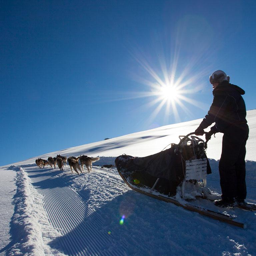
[[[256,203],[256,110],[247,112],[247,200]],[[0,167],[0,255],[256,255],[256,213],[225,209],[240,229],[131,190],[113,164],[123,153],[146,156],[177,143],[201,119],[32,157]],[[208,143],[208,187],[220,193],[221,134]],[[100,156],[92,172],[40,169],[57,154]],[[98,165],[98,166],[97,166]],[[219,196],[217,194],[217,196]],[[204,200],[205,201],[205,200]],[[201,203],[201,202],[199,202]],[[204,206],[216,210],[211,202]]]

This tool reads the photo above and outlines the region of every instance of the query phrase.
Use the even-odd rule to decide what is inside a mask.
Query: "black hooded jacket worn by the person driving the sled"
[[[230,125],[247,123],[245,103],[241,96],[245,91],[242,88],[224,81],[212,93],[212,105],[200,128],[205,129],[215,122],[211,131],[224,133]]]

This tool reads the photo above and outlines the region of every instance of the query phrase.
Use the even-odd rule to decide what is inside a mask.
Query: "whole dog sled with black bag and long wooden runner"
[[[196,197],[211,199],[206,177],[211,173],[206,156],[206,142],[192,136],[179,136],[179,144],[146,157],[121,155],[115,159],[119,175],[133,190],[174,203],[187,210],[238,226],[245,224],[233,220],[231,215],[195,206],[189,201]]]

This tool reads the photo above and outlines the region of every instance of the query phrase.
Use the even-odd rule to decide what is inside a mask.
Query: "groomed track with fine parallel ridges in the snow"
[[[92,211],[62,177],[53,174],[59,171],[38,168],[26,171],[32,185],[43,195],[50,224],[61,234],[58,249],[72,256],[125,255],[125,249],[120,244],[116,249],[115,241],[111,240],[114,238],[101,230],[104,219]]]

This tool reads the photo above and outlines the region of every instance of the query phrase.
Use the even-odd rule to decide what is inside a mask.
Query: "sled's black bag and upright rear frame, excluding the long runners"
[[[131,186],[149,193],[159,193],[168,197],[186,198],[188,182],[206,187],[207,174],[211,173],[205,153],[207,144],[200,138],[179,136],[179,144],[171,144],[169,149],[146,157],[118,156],[115,160],[121,177]]]

